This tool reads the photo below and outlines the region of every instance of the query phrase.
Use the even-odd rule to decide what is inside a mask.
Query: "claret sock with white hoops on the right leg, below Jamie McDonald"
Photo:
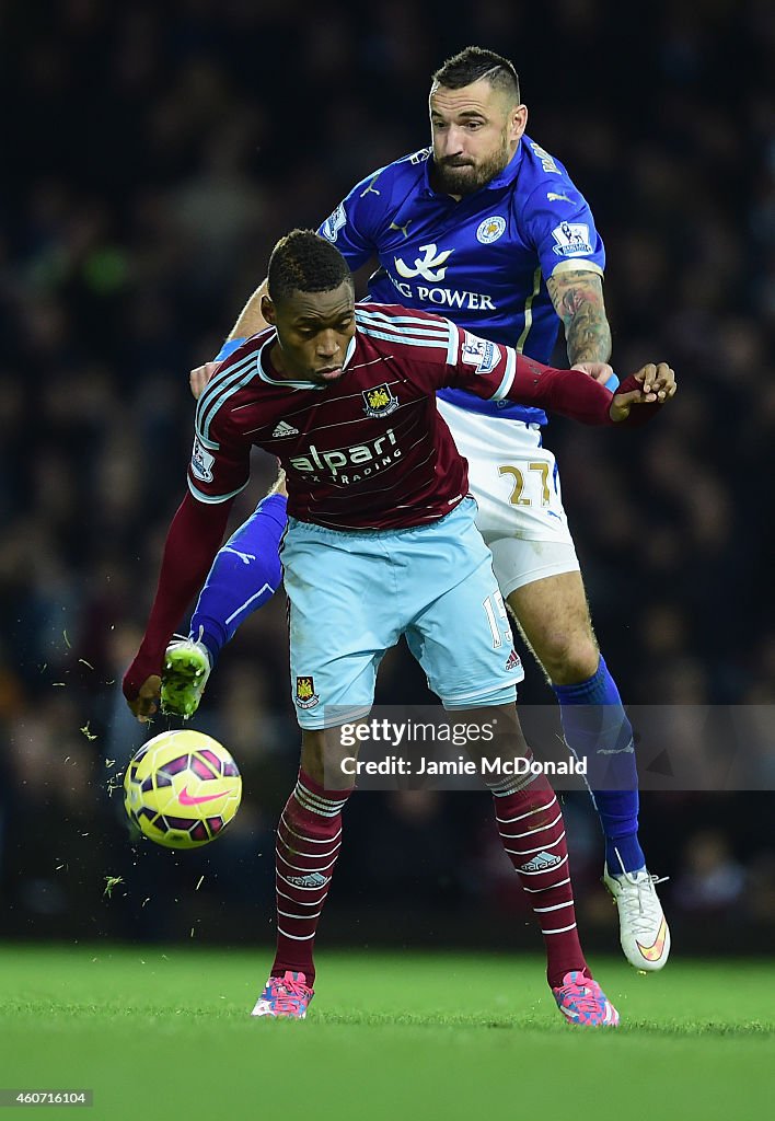
[[[562,985],[574,970],[591,976],[579,943],[565,825],[554,790],[545,775],[488,785],[500,840],[544,936],[550,985]]]

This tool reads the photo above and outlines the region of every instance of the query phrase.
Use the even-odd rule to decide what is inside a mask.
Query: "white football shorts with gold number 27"
[[[538,425],[470,413],[436,398],[469,465],[477,528],[504,599],[547,576],[579,572],[554,455]]]

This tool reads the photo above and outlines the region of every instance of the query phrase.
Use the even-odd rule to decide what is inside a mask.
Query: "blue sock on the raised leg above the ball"
[[[191,637],[201,634],[213,666],[240,623],[270,600],[283,581],[278,549],[287,504],[284,494],[262,499],[213,560],[191,617]]]

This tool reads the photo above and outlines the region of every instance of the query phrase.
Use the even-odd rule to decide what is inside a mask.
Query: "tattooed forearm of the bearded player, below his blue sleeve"
[[[546,287],[565,327],[570,364],[607,362],[611,328],[606,318],[602,277],[589,269],[561,270],[548,278]]]

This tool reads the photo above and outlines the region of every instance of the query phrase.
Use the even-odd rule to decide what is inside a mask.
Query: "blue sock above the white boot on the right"
[[[646,864],[638,843],[638,771],[633,728],[616,682],[601,655],[589,680],[553,688],[565,742],[588,760],[587,785],[606,835],[608,871],[636,872]]]

